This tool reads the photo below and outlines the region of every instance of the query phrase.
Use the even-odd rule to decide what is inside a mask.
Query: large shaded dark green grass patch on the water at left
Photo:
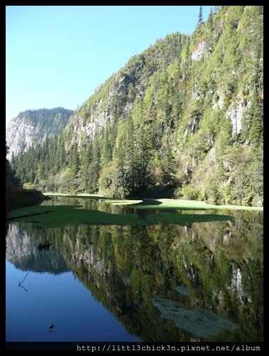
[[[38,215],[33,215],[38,214]],[[13,221],[28,221],[38,228],[68,225],[154,225],[154,221],[139,219],[136,214],[109,214],[104,211],[81,209],[75,205],[26,206],[10,212]]]

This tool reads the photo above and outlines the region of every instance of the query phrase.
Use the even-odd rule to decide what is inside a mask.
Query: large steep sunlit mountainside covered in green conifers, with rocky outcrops
[[[263,6],[159,39],[11,167],[47,192],[262,205]]]

